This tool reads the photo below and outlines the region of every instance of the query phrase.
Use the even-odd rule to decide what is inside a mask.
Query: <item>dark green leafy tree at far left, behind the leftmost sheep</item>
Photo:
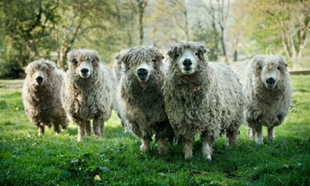
[[[48,25],[58,17],[53,13],[58,1],[1,1],[1,23],[3,41],[1,43],[1,76],[18,77],[23,66],[41,56],[48,56],[50,50],[43,49],[50,43]]]

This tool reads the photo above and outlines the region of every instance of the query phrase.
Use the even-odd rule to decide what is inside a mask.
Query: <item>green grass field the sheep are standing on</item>
[[[0,81],[0,185],[310,185],[310,76],[291,76],[293,102],[276,141],[256,145],[242,126],[235,147],[214,144],[213,160],[200,152],[185,161],[181,145],[167,155],[140,152],[140,141],[124,133],[116,114],[105,138],[77,143],[76,126],[42,137],[23,111],[23,81]],[[264,130],[266,136],[267,132]]]

